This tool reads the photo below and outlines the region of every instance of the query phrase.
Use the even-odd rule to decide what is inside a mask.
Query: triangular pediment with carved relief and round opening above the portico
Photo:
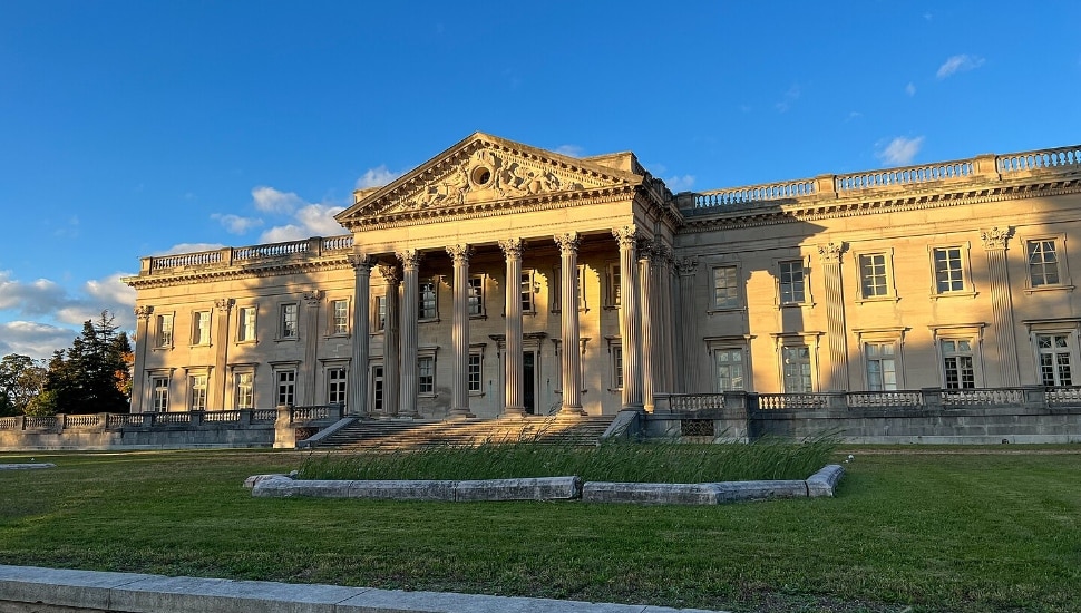
[[[631,154],[626,167],[635,168]],[[619,156],[615,156],[619,157]],[[633,188],[642,175],[476,133],[391,184],[357,192],[334,216],[345,227],[508,210]]]

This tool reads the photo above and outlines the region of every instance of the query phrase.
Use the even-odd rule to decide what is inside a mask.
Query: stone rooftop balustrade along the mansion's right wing
[[[918,184],[1009,181],[1032,173],[1081,173],[1081,146],[712,189],[681,198],[680,205],[690,210],[723,210],[750,204],[828,201],[861,193],[904,191]]]

